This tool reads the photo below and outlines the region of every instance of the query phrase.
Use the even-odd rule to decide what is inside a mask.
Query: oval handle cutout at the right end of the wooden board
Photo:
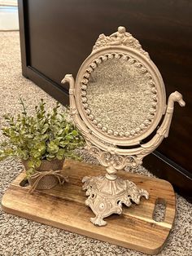
[[[157,198],[155,201],[155,207],[153,211],[153,219],[161,223],[164,221],[166,211],[166,201],[162,198]]]

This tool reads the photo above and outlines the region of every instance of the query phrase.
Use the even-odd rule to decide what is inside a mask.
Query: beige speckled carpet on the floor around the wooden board
[[[28,104],[28,111],[33,111],[41,98],[48,106],[55,104],[43,90],[33,82],[22,77],[20,68],[19,33],[0,33],[0,110],[3,113],[18,113],[19,96]],[[0,119],[2,125],[2,118]],[[2,135],[0,135],[0,139]],[[94,162],[86,152],[82,152],[85,161]],[[22,170],[20,161],[7,159],[0,162],[1,198],[9,184]],[[141,167],[137,172],[151,175]],[[0,198],[0,199],[1,199]],[[181,196],[177,196],[177,215],[174,228],[167,245],[159,255],[192,255],[192,206]],[[126,255],[142,256],[130,249],[111,245],[106,242],[89,239],[54,227],[35,223],[24,218],[3,213],[0,208],[0,256],[61,256],[61,255]]]

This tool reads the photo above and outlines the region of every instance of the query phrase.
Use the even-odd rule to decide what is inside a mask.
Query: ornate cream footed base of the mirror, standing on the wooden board
[[[121,178],[110,180],[106,176],[85,176],[82,182],[83,190],[86,190],[86,196],[89,196],[85,205],[88,205],[96,215],[90,218],[90,221],[98,226],[107,224],[103,218],[111,214],[121,214],[122,204],[129,207],[132,202],[138,205],[141,196],[149,198],[146,190],[137,188],[135,183]]]

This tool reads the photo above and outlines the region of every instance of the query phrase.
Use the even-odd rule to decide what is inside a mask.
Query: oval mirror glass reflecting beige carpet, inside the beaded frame
[[[155,84],[139,64],[124,58],[107,60],[94,69],[86,97],[94,119],[122,135],[140,133],[155,115]]]

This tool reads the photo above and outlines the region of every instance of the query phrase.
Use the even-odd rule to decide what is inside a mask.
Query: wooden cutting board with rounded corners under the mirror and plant
[[[29,186],[21,187],[21,173],[2,197],[2,209],[10,214],[39,223],[59,227],[83,236],[136,249],[146,254],[158,254],[164,247],[175,217],[175,194],[172,185],[163,179],[120,171],[121,178],[129,179],[150,193],[149,200],[142,198],[140,205],[124,206],[123,214],[106,218],[107,226],[97,227],[89,221],[94,213],[85,206],[85,192],[81,179],[84,176],[105,174],[101,166],[84,162],[66,161],[63,173],[69,182],[51,190],[28,193]],[[164,220],[154,220],[157,201],[166,207]]]

